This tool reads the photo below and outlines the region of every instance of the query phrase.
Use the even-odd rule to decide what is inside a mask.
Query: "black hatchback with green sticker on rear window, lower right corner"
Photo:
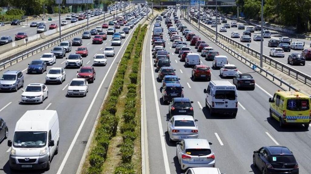
[[[265,146],[254,151],[253,166],[264,174],[299,174],[293,153],[284,146]]]

